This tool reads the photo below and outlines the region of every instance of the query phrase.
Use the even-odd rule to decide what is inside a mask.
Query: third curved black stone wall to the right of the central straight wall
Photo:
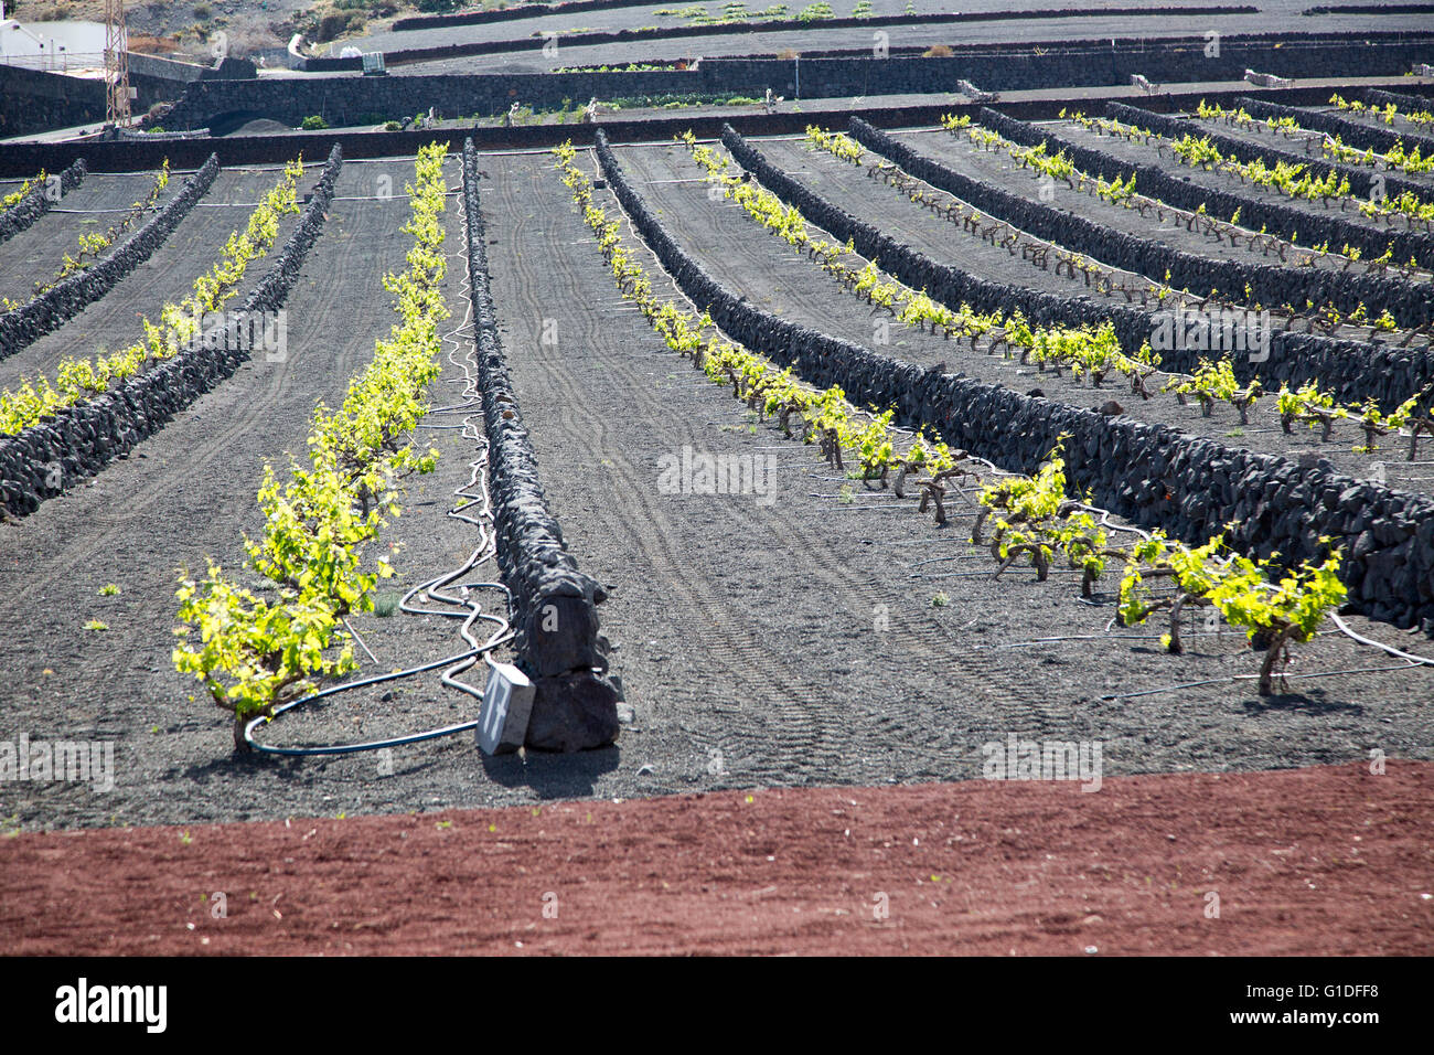
[[[1347,313],[1362,304],[1371,317],[1388,309],[1400,324],[1407,327],[1421,326],[1434,317],[1434,303],[1425,286],[1368,273],[1347,274],[1318,268],[1246,264],[1183,253],[1164,243],[1117,231],[1045,202],[971,179],[918,154],[860,118],[852,118],[852,135],[913,177],[1037,238],[1086,253],[1113,267],[1167,281],[1174,289],[1189,289],[1202,294],[1215,289],[1238,304],[1304,304],[1305,300],[1324,304],[1332,300]],[[1170,276],[1169,280],[1164,278],[1166,274]]]

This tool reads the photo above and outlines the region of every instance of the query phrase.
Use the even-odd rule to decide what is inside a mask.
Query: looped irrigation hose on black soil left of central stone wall
[[[463,214],[463,222],[465,225],[467,224],[466,211]],[[465,277],[463,287],[472,289],[472,276]],[[449,349],[449,362],[453,363],[455,366],[462,367],[463,370],[465,402],[457,403],[455,406],[437,408],[435,411],[430,411],[429,413],[460,413],[463,411],[470,411],[473,408],[479,408],[478,413],[479,415],[482,413],[480,409],[482,405],[479,402],[479,393],[476,389],[478,379],[473,370],[470,369],[466,360],[460,362],[453,357],[453,353],[459,347],[462,347],[460,343],[455,340],[455,334],[463,332],[465,329],[469,329],[473,324],[473,300],[472,297],[466,297],[466,300],[467,300],[467,310],[463,314],[463,322],[455,326],[446,334],[443,334],[443,340],[453,344],[453,349]],[[450,383],[457,383],[457,382],[450,382]],[[479,530],[480,535],[479,544],[473,550],[473,553],[469,554],[469,558],[460,567],[453,568],[452,571],[446,571],[437,576],[436,578],[430,578],[426,583],[414,586],[399,601],[400,610],[409,614],[463,619],[463,626],[460,627],[459,633],[463,636],[463,640],[467,642],[470,647],[453,656],[436,659],[430,663],[423,663],[420,666],[409,667],[406,670],[396,670],[387,675],[376,675],[373,677],[361,677],[356,682],[346,682],[343,685],[334,685],[327,689],[320,689],[318,692],[311,692],[307,696],[301,696],[300,699],[291,700],[290,703],[277,708],[272,715],[260,715],[251,719],[244,726],[244,742],[248,744],[251,749],[265,755],[290,755],[290,756],[351,755],[360,751],[380,751],[384,748],[406,746],[409,744],[422,744],[423,741],[439,739],[442,736],[452,736],[453,733],[478,728],[479,722],[478,719],[475,719],[470,722],[459,722],[456,725],[446,725],[436,729],[424,729],[423,732],[407,733],[404,736],[391,736],[389,739],[381,739],[381,741],[367,741],[364,744],[330,744],[330,745],[303,746],[303,748],[278,748],[278,746],[271,746],[268,744],[260,744],[257,739],[254,739],[254,731],[260,725],[272,722],[280,715],[284,715],[288,711],[293,711],[294,708],[303,706],[304,703],[313,703],[314,700],[320,700],[327,696],[337,696],[338,693],[348,692],[351,689],[363,689],[371,685],[381,685],[383,682],[393,682],[403,677],[412,677],[413,675],[426,673],[429,670],[436,670],[439,667],[443,667],[443,673],[440,675],[440,680],[443,685],[449,686],[450,689],[467,693],[469,696],[473,696],[476,700],[479,700],[479,703],[482,703],[483,700],[482,690],[475,689],[472,685],[459,682],[457,675],[470,669],[478,662],[479,657],[492,665],[489,653],[493,649],[506,644],[509,640],[512,640],[515,632],[506,617],[483,611],[482,606],[475,600],[469,600],[467,596],[470,590],[489,590],[489,589],[500,590],[503,593],[503,599],[508,607],[511,609],[512,597],[508,593],[506,586],[503,586],[502,583],[455,581],[457,578],[462,578],[463,576],[466,576],[469,571],[479,567],[485,561],[492,560],[498,553],[496,538],[490,527],[493,520],[492,497],[486,485],[483,484],[483,474],[488,469],[488,441],[475,426],[473,418],[475,415],[472,413],[465,415],[462,426],[457,428],[463,429],[465,436],[475,439],[479,444],[479,456],[469,464],[470,471],[467,482],[453,491],[453,494],[463,501],[460,501],[457,505],[449,510],[447,515],[453,517],[455,520],[462,520],[469,524],[473,524]],[[475,488],[478,488],[478,494],[473,494]],[[482,507],[479,510],[478,517],[472,517],[467,512],[465,512],[473,505]],[[449,594],[447,593],[449,589],[457,589],[459,594],[457,596]],[[414,596],[426,597],[429,600],[436,600],[442,604],[449,604],[459,610],[453,611],[447,609],[417,607],[416,604],[413,604]],[[483,642],[475,639],[472,633],[473,623],[480,619],[488,620],[490,623],[498,623],[498,629]]]

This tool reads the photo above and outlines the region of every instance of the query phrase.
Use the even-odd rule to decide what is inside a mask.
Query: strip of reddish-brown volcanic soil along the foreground
[[[1391,762],[20,834],[0,947],[1417,955],[1431,805]]]

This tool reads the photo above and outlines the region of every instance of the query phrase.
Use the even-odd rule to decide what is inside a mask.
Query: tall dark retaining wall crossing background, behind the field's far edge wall
[[[496,115],[512,103],[559,109],[564,102],[581,106],[588,99],[621,99],[660,95],[741,95],[761,98],[770,88],[787,99],[820,99],[891,93],[949,93],[967,79],[984,90],[1007,92],[1064,86],[1129,85],[1133,73],[1153,80],[1239,80],[1246,66],[1273,73],[1302,75],[1321,69],[1351,76],[1398,75],[1415,56],[1427,55],[1428,42],[1380,40],[1279,42],[1262,37],[1225,37],[1220,56],[1206,57],[1203,39],[1180,42],[1116,40],[1053,44],[1050,49],[956,49],[952,57],[886,59],[703,59],[695,70],[609,73],[505,73],[383,78],[314,78],[258,80],[198,80],[165,118],[165,128],[199,128],[228,113],[255,113],[298,125],[321,115],[331,125],[357,123],[380,115],[399,119],[426,113],[430,106],[445,116]],[[541,40],[513,42],[536,50]],[[1276,46],[1281,44],[1281,46]],[[452,49],[429,57],[452,57]],[[420,53],[389,53],[394,67]],[[327,59],[324,69],[360,69],[358,59]],[[318,69],[317,62],[310,63]],[[1381,250],[1382,251],[1382,250]]]

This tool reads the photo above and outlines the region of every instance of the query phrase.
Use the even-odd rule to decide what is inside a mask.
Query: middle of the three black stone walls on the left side
[[[83,311],[87,304],[109,293],[120,278],[149,260],[179,225],[179,221],[189,215],[194,204],[209,191],[218,174],[219,159],[211,154],[199,171],[185,181],[179,192],[165,202],[165,207],[143,227],[130,234],[118,250],[83,271],[76,271],[69,278],[57,281],[13,311],[0,314],[0,359],[13,356],[46,333],[60,329]]]

